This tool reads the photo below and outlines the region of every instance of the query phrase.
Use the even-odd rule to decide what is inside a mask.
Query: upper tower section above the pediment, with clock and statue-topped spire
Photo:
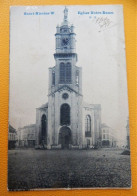
[[[81,68],[76,66],[76,34],[74,26],[68,22],[68,9],[64,9],[64,20],[56,27],[55,34],[55,67],[50,68],[49,94],[54,93],[62,86],[69,86],[82,94]]]

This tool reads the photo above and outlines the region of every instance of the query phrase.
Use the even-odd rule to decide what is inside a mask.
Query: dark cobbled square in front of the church
[[[130,156],[121,150],[10,150],[10,190],[130,187]]]

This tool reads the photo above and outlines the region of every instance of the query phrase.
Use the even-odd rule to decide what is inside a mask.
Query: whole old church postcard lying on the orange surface
[[[10,7],[8,190],[130,189],[122,5]]]

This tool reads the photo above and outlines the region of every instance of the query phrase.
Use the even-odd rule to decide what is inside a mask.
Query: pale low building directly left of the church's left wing
[[[36,125],[31,124],[18,129],[18,146],[34,147],[35,146]]]

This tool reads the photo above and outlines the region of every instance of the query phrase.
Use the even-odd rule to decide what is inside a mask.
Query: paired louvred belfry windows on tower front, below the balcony
[[[60,63],[60,83],[71,83],[71,64]]]

